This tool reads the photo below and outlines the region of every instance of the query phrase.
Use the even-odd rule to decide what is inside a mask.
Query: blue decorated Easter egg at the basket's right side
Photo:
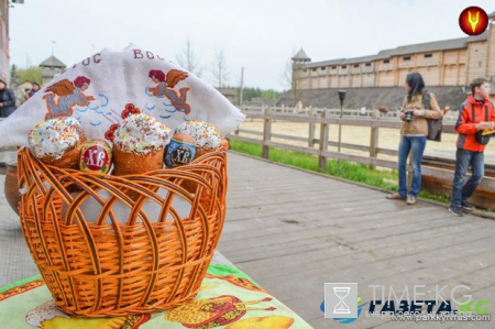
[[[195,158],[195,140],[188,134],[176,133],[167,145],[165,165],[173,168],[188,164]]]

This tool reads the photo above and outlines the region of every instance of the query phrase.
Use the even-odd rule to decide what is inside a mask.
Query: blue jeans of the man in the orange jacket
[[[485,174],[483,152],[458,149],[455,154],[455,174],[452,182],[452,199],[450,200],[452,207],[461,207],[461,202],[473,195]],[[473,174],[464,185],[464,178],[470,165]]]

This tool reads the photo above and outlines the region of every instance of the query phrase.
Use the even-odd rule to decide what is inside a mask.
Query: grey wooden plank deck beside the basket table
[[[369,285],[392,285],[398,295],[405,285],[448,285],[449,299],[450,288],[464,284],[473,299],[491,300],[495,316],[494,220],[457,218],[425,201],[389,201],[378,190],[234,153],[229,175],[220,252],[315,328],[417,328],[363,316],[350,325],[324,319],[319,308],[326,282],[358,283],[363,301],[372,299]],[[0,190],[2,286],[37,271]],[[493,328],[493,322],[471,326]]]

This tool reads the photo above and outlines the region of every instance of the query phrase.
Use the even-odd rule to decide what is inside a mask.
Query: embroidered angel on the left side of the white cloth
[[[85,76],[78,76],[74,83],[68,79],[59,80],[58,83],[48,86],[43,96],[46,101],[47,113],[45,119],[54,117],[70,117],[74,113],[74,107],[87,107],[89,102],[95,100],[95,97],[85,95],[88,89],[89,80]]]

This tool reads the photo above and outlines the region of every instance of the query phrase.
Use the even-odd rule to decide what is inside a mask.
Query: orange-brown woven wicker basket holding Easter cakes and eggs
[[[198,293],[223,228],[224,150],[174,169],[110,176],[48,166],[23,149],[18,169],[24,237],[61,310],[154,312]]]

